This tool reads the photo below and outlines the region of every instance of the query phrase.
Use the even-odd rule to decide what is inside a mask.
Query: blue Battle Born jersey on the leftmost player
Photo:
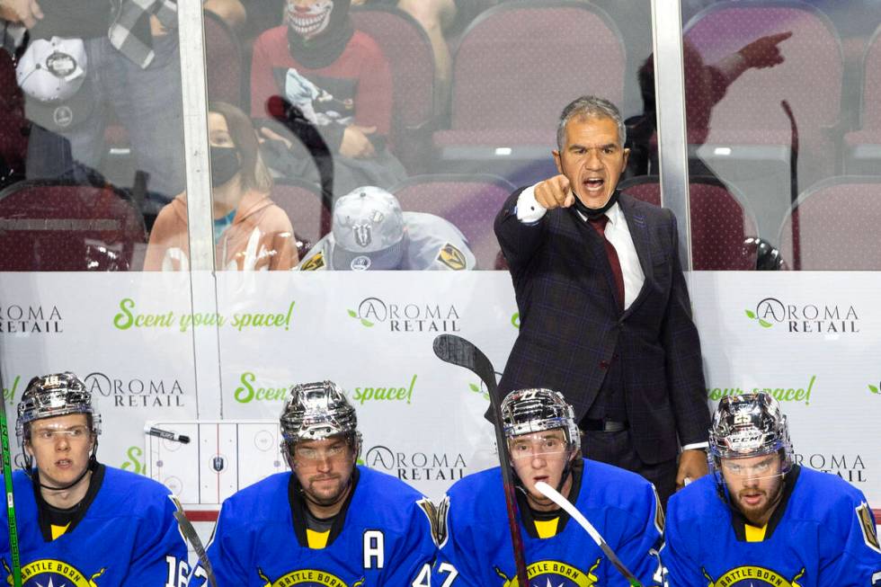
[[[76,525],[44,538],[31,479],[13,473],[15,520],[24,587],[183,587],[187,547],[168,489],[145,476],[99,466],[92,503]],[[13,584],[6,509],[0,511],[0,558]]]

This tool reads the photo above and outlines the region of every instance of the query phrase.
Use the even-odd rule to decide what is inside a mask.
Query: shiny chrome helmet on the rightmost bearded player
[[[772,453],[779,453],[780,473],[786,474],[793,463],[792,442],[777,400],[765,393],[723,397],[709,429],[710,467],[717,473],[723,458]]]

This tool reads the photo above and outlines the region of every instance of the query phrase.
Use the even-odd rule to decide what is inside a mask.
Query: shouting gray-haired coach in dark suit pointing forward
[[[709,410],[676,218],[616,189],[625,133],[611,102],[574,100],[557,127],[561,174],[495,218],[521,316],[499,387],[563,393],[584,456],[645,476],[666,503],[707,473]]]

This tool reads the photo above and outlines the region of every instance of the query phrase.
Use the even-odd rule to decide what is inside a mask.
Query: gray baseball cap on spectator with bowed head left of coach
[[[397,269],[404,256],[404,213],[375,186],[350,191],[334,206],[334,270]]]

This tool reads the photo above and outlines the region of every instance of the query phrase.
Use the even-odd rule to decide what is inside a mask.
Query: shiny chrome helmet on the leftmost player
[[[93,434],[101,434],[101,414],[80,378],[70,371],[32,378],[18,405],[15,435],[19,446],[30,439],[31,422],[67,414],[86,414]]]

